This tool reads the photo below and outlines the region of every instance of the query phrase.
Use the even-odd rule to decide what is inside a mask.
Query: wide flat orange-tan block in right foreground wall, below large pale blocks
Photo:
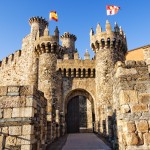
[[[145,112],[148,111],[146,104],[136,104],[131,107],[132,112]]]

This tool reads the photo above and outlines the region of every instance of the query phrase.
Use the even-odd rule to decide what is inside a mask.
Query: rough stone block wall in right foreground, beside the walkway
[[[113,109],[114,141],[120,150],[150,149],[150,78],[144,61],[116,64]]]

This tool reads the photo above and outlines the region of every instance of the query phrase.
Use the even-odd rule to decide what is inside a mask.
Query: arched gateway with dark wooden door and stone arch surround
[[[65,120],[68,133],[94,131],[94,101],[90,93],[75,89],[67,95]]]

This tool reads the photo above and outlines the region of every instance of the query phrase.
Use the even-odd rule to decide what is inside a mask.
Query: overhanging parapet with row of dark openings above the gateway
[[[95,60],[57,60],[57,71],[63,77],[95,78]]]

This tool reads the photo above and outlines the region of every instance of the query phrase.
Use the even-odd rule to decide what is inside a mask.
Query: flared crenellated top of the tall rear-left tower
[[[39,32],[39,35],[42,36],[44,29],[48,26],[48,22],[42,17],[32,17],[29,19],[29,24],[31,26],[31,34],[36,36]]]

